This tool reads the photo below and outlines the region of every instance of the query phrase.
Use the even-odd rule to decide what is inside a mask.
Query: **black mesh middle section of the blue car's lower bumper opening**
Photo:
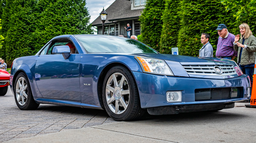
[[[211,100],[230,98],[231,88],[212,88]]]

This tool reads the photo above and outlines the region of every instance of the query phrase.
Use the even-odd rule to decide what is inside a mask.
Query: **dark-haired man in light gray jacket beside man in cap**
[[[209,39],[209,34],[202,33],[201,43],[203,44],[203,47],[199,50],[200,57],[213,57],[213,49],[212,45],[209,42]]]

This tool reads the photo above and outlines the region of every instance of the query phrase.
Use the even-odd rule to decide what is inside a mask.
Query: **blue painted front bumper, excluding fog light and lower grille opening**
[[[192,104],[222,104],[232,103],[250,99],[247,95],[247,87],[250,87],[247,75],[242,75],[231,79],[206,79],[206,78],[190,78],[161,76],[141,72],[132,72],[139,89],[139,97],[141,108],[152,108],[161,106],[175,105],[192,105]],[[196,89],[207,88],[224,88],[224,87],[240,87],[241,96],[230,99],[218,100],[195,100]],[[168,103],[166,100],[167,91],[181,91],[181,102]]]

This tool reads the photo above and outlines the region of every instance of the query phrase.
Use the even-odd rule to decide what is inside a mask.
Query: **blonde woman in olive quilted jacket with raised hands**
[[[243,73],[249,75],[252,86],[252,75],[255,64],[256,38],[252,35],[248,24],[239,25],[241,37],[235,36],[234,49],[238,51],[237,63]],[[240,37],[240,40],[239,40]],[[239,41],[239,42],[238,42]]]

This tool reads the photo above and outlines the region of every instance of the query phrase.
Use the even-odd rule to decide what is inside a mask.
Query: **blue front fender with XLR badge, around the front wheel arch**
[[[131,55],[82,54],[80,60],[80,93],[82,103],[100,106],[98,83],[103,82],[100,80],[100,74],[106,68],[110,69],[119,63],[125,65],[131,71],[142,72],[138,61]]]

